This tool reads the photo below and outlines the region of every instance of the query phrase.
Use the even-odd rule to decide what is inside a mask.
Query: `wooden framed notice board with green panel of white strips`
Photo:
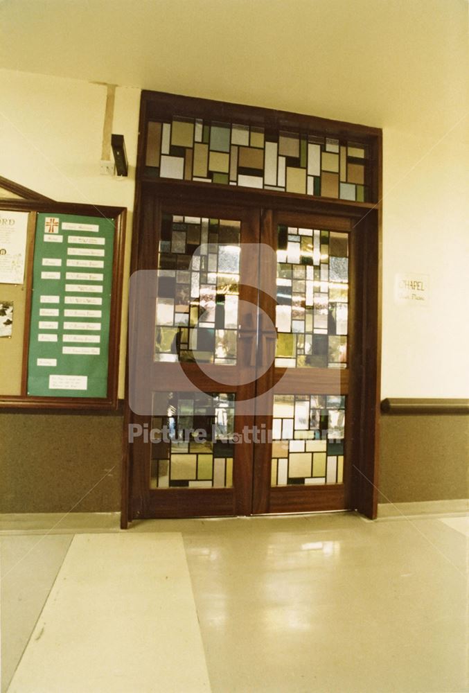
[[[0,203],[0,406],[116,408],[125,209]]]

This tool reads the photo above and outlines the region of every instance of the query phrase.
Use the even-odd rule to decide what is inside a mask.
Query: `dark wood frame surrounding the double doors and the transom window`
[[[168,122],[175,115],[182,119],[200,118],[204,119],[204,122],[244,123],[266,128],[266,131],[271,132],[290,130],[362,143],[369,148],[366,184],[369,186],[368,200],[371,201],[351,202],[321,198],[316,195],[207,184],[193,180],[155,179],[146,168],[148,124],[150,121]],[[149,200],[153,202],[149,204]],[[272,212],[294,211],[324,215],[329,218],[346,217],[351,220],[354,243],[350,261],[354,264],[355,273],[361,277],[362,281],[360,295],[356,297],[352,316],[357,326],[355,344],[351,345],[355,354],[355,367],[353,378],[349,383],[351,394],[348,399],[348,410],[351,415],[346,426],[348,426],[348,435],[351,433],[353,435],[351,444],[355,455],[349,469],[350,492],[345,498],[345,504],[349,509],[360,511],[369,518],[375,518],[378,502],[380,421],[382,131],[366,125],[332,121],[305,114],[143,91],[136,166],[131,272],[148,267],[154,200],[164,200],[168,203],[196,200],[201,204],[233,204],[245,209],[257,208]],[[130,335],[130,338],[133,336]],[[122,527],[127,527],[127,523],[136,518],[130,499],[132,484],[139,475],[139,471],[134,468],[132,450],[127,444],[127,424],[132,414],[128,406],[128,356],[126,381]]]

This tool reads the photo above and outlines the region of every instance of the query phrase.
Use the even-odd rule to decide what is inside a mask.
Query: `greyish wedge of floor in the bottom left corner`
[[[28,644],[71,538],[71,535],[0,538],[2,693]]]

